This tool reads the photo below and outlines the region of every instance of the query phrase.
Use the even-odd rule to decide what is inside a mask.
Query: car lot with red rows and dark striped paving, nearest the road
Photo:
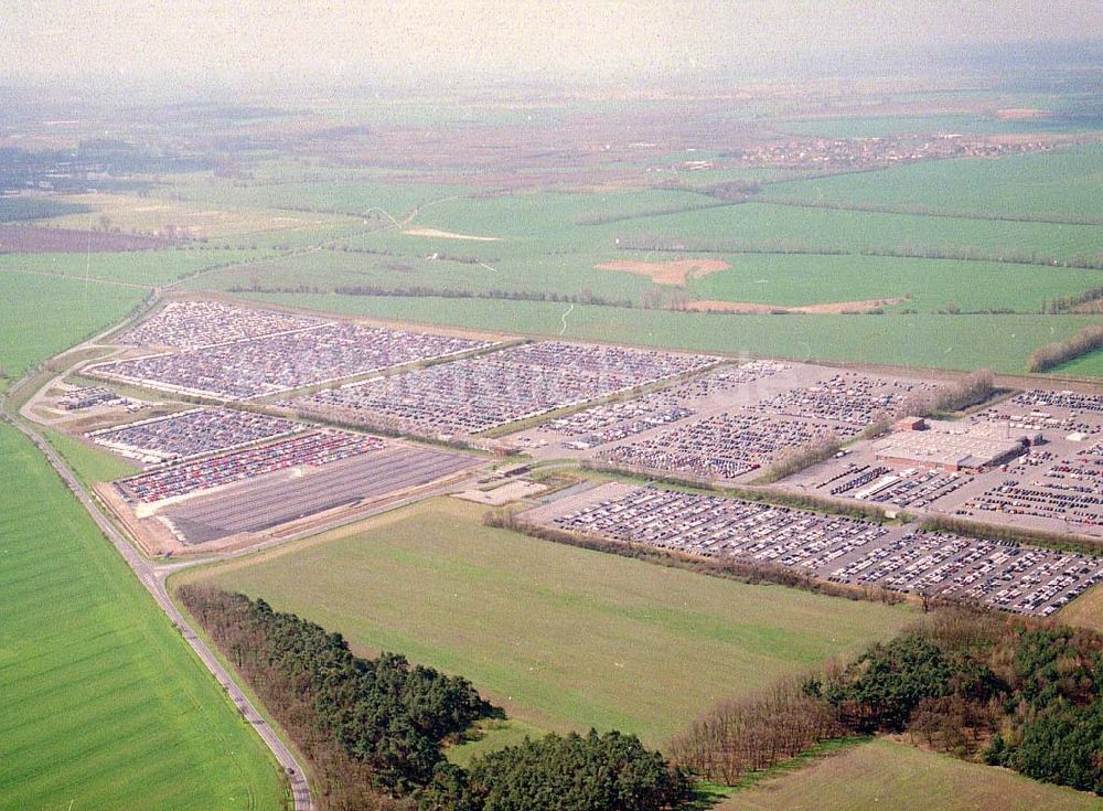
[[[233,419],[211,417],[218,414],[214,409],[189,412],[181,419],[196,414],[207,424],[235,426]],[[235,427],[257,428],[248,421],[257,415],[239,416],[245,421]],[[269,429],[290,427],[293,433],[237,450],[181,457],[100,485],[97,492],[151,549],[183,551],[200,544],[224,548],[324,523],[326,516],[350,520],[383,500],[430,484],[445,485],[452,477],[463,479],[465,471],[481,465],[469,455],[263,419],[271,420]],[[229,436],[244,438],[243,434]],[[180,438],[173,434],[157,438],[182,453],[217,441],[202,434],[191,445],[173,445]]]

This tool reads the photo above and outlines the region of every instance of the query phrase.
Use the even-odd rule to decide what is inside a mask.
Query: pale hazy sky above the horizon
[[[674,75],[1103,38],[1103,0],[2,0],[0,82]]]

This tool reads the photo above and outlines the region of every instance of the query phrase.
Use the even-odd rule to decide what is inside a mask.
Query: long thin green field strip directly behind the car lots
[[[425,324],[559,335],[702,352],[794,360],[868,361],[930,369],[1021,373],[1030,353],[1095,323],[1090,316],[731,316],[490,301],[335,295],[242,298],[322,312]]]

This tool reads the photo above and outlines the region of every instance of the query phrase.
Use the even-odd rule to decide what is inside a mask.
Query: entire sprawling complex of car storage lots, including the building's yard
[[[222,329],[231,317],[240,322]],[[286,415],[446,440],[495,431],[489,445],[526,452],[529,463],[566,459],[702,484],[753,482],[794,450],[845,442],[833,458],[772,487],[879,504],[890,515],[908,510],[1103,535],[1103,396],[1092,393],[1008,393],[956,420],[924,419],[914,413],[945,384],[565,341],[503,349],[493,338],[217,302],[170,303],[119,340],[182,349],[94,363],[93,373],[227,399],[333,381],[334,387],[267,406],[285,416],[202,407],[90,430],[92,442],[147,467],[99,492],[161,549],[248,544],[430,485],[481,493],[471,490],[479,457]],[[349,375],[425,360],[432,363],[339,385]],[[872,438],[859,438],[867,434]],[[516,499],[545,498],[543,487],[515,481]],[[566,492],[546,497],[523,520],[1043,616],[1103,577],[1096,558],[915,524],[881,526],[627,484]]]

